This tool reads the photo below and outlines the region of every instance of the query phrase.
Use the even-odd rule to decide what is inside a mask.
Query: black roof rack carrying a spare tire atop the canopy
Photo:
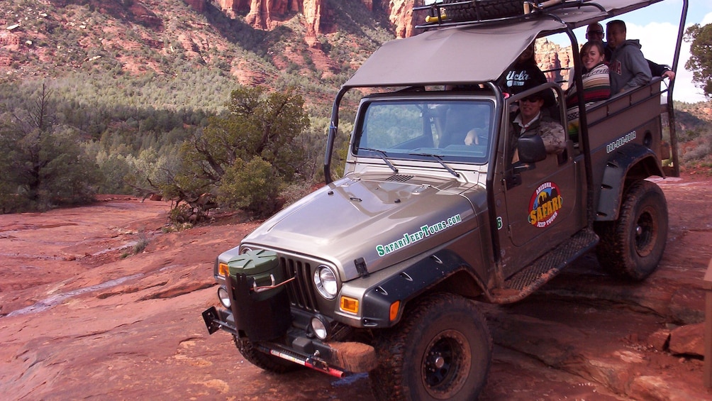
[[[605,9],[592,0],[547,0],[543,2],[525,0],[436,0],[427,6],[413,7],[413,11],[428,11],[425,24],[415,28],[441,28],[478,24],[501,24],[548,15],[560,20],[551,11],[557,9],[592,6],[600,11]]]

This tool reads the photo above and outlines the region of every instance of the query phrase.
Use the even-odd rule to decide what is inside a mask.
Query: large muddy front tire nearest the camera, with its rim
[[[369,373],[377,400],[476,400],[492,358],[492,338],[475,303],[427,296],[379,335],[379,367]]]

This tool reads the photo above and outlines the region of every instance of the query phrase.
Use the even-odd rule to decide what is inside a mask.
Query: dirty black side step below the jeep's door
[[[493,288],[489,294],[490,301],[493,303],[521,301],[597,243],[598,236],[591,229],[578,231],[571,239],[562,242],[504,281],[503,288]]]

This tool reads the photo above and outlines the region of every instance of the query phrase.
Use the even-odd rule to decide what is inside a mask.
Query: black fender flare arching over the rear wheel
[[[627,184],[652,175],[665,177],[658,157],[649,147],[631,143],[613,152],[603,172],[601,191],[596,208],[596,221],[618,219],[623,191]]]

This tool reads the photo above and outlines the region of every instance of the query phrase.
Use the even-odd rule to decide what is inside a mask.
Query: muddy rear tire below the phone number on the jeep
[[[598,261],[614,276],[641,281],[662,259],[668,231],[667,201],[653,182],[634,182],[615,222],[597,224]]]

